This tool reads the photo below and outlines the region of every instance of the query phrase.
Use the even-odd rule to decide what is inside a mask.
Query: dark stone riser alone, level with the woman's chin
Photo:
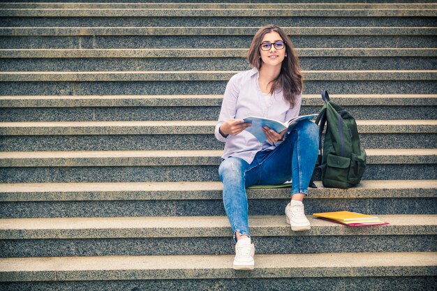
[[[300,57],[303,70],[436,70],[432,57]],[[0,59],[3,71],[249,70],[244,58]]]

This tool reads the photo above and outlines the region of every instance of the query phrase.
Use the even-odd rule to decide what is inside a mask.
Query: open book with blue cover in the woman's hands
[[[276,121],[273,119],[268,118],[262,118],[262,117],[246,117],[244,119],[244,122],[249,122],[252,124],[252,126],[249,126],[245,130],[249,131],[249,133],[255,135],[255,137],[260,142],[265,142],[267,140],[267,137],[264,134],[264,131],[262,131],[262,128],[264,126],[267,126],[270,129],[273,129],[276,131],[276,133],[280,133],[282,130],[289,128],[292,129],[296,126],[297,123],[299,123],[302,120],[311,120],[315,119],[318,114],[309,114],[309,115],[301,115],[298,117],[294,117],[290,119],[289,121],[286,121],[284,123],[280,121]]]

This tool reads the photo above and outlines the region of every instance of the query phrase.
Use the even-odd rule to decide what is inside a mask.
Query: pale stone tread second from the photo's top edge
[[[2,8],[0,17],[437,17],[437,8]]]

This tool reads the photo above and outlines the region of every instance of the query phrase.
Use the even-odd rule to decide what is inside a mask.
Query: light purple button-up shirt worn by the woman
[[[238,135],[228,135],[223,137],[218,128],[230,118],[244,119],[250,115],[256,117],[267,117],[281,122],[285,122],[292,117],[299,115],[302,95],[296,99],[295,107],[283,99],[282,91],[275,91],[269,104],[265,104],[258,84],[258,69],[252,68],[244,72],[233,75],[226,86],[221,105],[220,116],[214,134],[217,140],[225,142],[225,149],[222,158],[230,156],[242,158],[247,163],[252,163],[255,154],[263,149],[274,149],[281,142],[258,142],[255,136],[246,130]]]

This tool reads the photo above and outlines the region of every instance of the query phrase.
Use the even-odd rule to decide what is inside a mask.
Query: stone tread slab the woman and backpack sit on
[[[325,188],[314,198],[436,197],[437,180],[364,180],[353,188]],[[218,181],[0,184],[0,201],[221,200]],[[286,199],[290,188],[248,189],[249,199]]]

